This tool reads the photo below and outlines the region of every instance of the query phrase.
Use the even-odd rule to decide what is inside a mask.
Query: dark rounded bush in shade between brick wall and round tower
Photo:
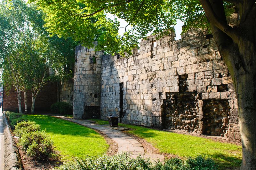
[[[59,114],[72,114],[72,107],[66,102],[56,102],[50,107],[52,112]]]

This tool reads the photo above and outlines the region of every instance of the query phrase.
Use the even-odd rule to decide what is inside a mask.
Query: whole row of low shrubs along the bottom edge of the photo
[[[210,158],[202,156],[181,160],[179,158],[168,159],[164,163],[150,163],[149,159],[137,157],[130,158],[129,154],[119,154],[112,157],[86,158],[75,162],[64,163],[60,170],[216,170],[218,167]]]

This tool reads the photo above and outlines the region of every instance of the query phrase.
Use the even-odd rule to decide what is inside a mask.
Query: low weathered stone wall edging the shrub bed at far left
[[[18,170],[22,169],[21,159],[18,147],[12,137],[12,130],[8,120],[3,112],[4,124],[4,169],[5,170]]]

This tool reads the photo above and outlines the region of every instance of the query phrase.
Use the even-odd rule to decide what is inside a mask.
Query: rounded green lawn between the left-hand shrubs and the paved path
[[[84,158],[87,155],[97,157],[108,150],[105,139],[90,128],[46,115],[24,116],[40,124],[41,129],[50,135],[63,161]]]

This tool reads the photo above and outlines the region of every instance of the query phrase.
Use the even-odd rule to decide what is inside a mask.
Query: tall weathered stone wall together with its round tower
[[[193,29],[174,37],[149,36],[128,58],[78,46],[74,117],[116,112],[128,124],[240,142],[235,90],[212,35]]]

